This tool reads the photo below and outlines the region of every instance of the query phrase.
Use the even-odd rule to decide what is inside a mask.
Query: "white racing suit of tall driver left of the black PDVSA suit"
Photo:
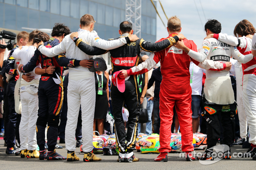
[[[87,31],[83,29],[78,30],[78,36],[84,42],[91,46],[102,48],[105,50],[114,49],[123,46],[127,43],[126,38],[118,40],[106,41],[99,38],[95,31]],[[91,55],[82,52],[70,38],[69,35],[65,36],[59,45],[52,48],[39,46],[39,51],[48,56],[54,57],[61,53],[66,52],[67,58],[77,60],[89,60]],[[81,104],[82,108],[82,135],[83,135],[83,151],[91,152],[93,149],[93,118],[95,109],[95,78],[94,73],[90,72],[88,68],[78,66],[69,68],[68,78],[68,114],[67,124],[65,130],[65,143],[66,150],[76,150],[76,125]]]

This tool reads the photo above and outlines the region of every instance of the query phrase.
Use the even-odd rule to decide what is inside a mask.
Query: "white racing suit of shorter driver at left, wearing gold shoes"
[[[21,50],[15,49],[13,57],[20,60],[20,64],[25,65],[29,62],[34,55],[36,48],[33,46],[23,46]],[[37,66],[41,68],[39,65]],[[21,150],[36,150],[36,121],[38,117],[38,85],[40,75],[30,72],[31,76],[34,76],[30,82],[22,81],[16,83],[16,87],[20,90],[20,100],[22,104],[21,119],[20,119],[20,149]],[[19,92],[19,91],[18,91]],[[16,100],[15,100],[16,104]],[[15,105],[16,107],[16,105]]]

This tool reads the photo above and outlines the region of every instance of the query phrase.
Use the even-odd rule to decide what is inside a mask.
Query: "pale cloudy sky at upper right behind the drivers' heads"
[[[177,15],[181,20],[181,33],[187,39],[193,40],[201,48],[204,37],[204,24],[206,19],[217,19],[222,26],[221,33],[233,35],[234,28],[243,19],[249,20],[256,27],[256,1],[255,0],[160,0],[167,17]],[[195,1],[195,2],[194,2]],[[201,7],[201,4],[202,7]],[[196,3],[196,5],[195,5]],[[198,12],[196,11],[196,7]],[[203,12],[204,10],[204,12]],[[167,18],[157,0],[157,11],[164,24],[157,16],[156,39],[168,36],[166,31]],[[205,17],[204,17],[205,14]],[[206,18],[206,19],[205,19]]]

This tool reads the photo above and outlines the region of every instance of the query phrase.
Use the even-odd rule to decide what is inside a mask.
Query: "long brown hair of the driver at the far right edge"
[[[246,36],[248,34],[255,34],[255,28],[248,20],[244,19],[236,24],[234,29],[234,35],[238,37],[238,35]]]

